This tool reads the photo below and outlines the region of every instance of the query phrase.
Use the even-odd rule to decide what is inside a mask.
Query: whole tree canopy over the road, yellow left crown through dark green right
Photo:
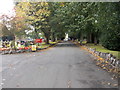
[[[18,17],[35,28],[36,38],[43,32],[50,38],[62,39],[65,33],[74,39],[101,43],[120,50],[120,4],[113,2],[21,2]]]

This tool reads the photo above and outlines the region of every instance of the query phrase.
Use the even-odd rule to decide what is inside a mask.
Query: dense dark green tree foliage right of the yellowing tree
[[[60,36],[65,32],[75,39],[101,43],[104,47],[120,50],[119,3],[54,3],[52,28]],[[59,29],[59,30],[58,30]]]

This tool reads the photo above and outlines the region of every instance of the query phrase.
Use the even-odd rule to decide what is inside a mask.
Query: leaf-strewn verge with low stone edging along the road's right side
[[[96,49],[87,47],[86,45],[81,46],[78,42],[73,43],[79,46],[81,49],[86,50],[92,54],[95,57],[94,61],[97,66],[101,67],[107,72],[110,72],[114,78],[120,78],[120,60],[115,58],[115,56],[110,53],[96,51]]]

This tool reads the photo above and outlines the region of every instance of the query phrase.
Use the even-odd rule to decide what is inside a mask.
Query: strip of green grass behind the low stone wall
[[[87,46],[90,48],[96,48],[96,51],[113,54],[114,56],[116,56],[117,58],[120,59],[120,52],[119,51],[108,50],[101,45],[87,44]]]

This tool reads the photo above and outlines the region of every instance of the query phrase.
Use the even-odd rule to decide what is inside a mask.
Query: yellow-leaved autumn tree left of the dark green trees
[[[36,38],[39,37],[39,32],[44,32],[46,43],[49,43],[50,26],[48,3],[47,2],[20,2],[17,4],[18,14],[20,11],[26,16],[26,22],[32,25],[35,30]],[[20,9],[20,10],[19,10]],[[22,15],[21,15],[22,16]]]

